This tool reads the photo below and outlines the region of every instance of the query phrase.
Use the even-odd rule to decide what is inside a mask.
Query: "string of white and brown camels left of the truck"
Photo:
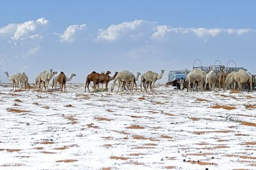
[[[90,82],[93,82],[93,88],[98,87],[100,83],[106,84],[106,89],[108,89],[108,83],[109,81],[113,80],[113,84],[111,87],[111,92],[113,92],[115,88],[115,83],[118,81],[118,91],[124,91],[124,90],[133,90],[134,86],[137,90],[137,84],[136,81],[139,79],[139,76],[141,75],[141,91],[144,91],[148,89],[148,85],[150,86],[150,91],[154,91],[155,83],[157,80],[161,79],[163,77],[164,70],[161,71],[160,74],[155,73],[153,71],[147,71],[146,73],[142,74],[137,73],[136,76],[134,76],[133,73],[124,70],[121,72],[115,72],[113,76],[109,76],[111,74],[110,71],[106,71],[106,73],[96,73],[93,71],[92,73],[88,74],[85,81],[85,90],[86,87],[88,91],[90,92],[89,85]],[[8,80],[12,81],[13,84],[13,90],[16,90],[17,85],[19,85],[20,88],[24,88],[24,90],[29,90],[30,86],[28,83],[28,76],[26,73],[17,73],[13,74],[13,76],[9,76],[8,72],[4,72]],[[68,78],[62,71],[61,73],[57,73],[56,71],[52,71],[50,69],[49,71],[42,71],[41,73],[36,76],[35,79],[35,89],[42,89],[41,84],[44,85],[44,90],[48,91],[49,81],[52,79],[52,89],[56,89],[57,83],[60,84],[60,90],[66,91],[66,83],[67,81],[71,81],[72,78],[76,76],[76,74],[72,73],[71,76]],[[143,90],[142,90],[143,86]]]

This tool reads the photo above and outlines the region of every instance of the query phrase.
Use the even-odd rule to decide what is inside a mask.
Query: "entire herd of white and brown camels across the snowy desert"
[[[9,76],[8,72],[4,72],[4,74],[8,80],[12,81],[13,89],[16,89],[17,85],[19,85],[20,88],[23,87],[24,90],[29,90],[30,86],[26,73],[17,73],[13,76]],[[110,71],[106,71],[106,73],[97,73],[93,71],[88,74],[88,76],[86,76],[84,92],[86,92],[86,89],[90,92],[89,85],[91,82],[93,82],[93,89],[96,87],[99,89],[100,83],[105,83],[106,89],[108,89],[108,83],[112,80],[111,92],[115,89],[116,81],[118,81],[118,92],[124,90],[132,91],[134,87],[137,90],[136,81],[139,79],[140,75],[141,91],[147,91],[148,86],[150,86],[150,91],[154,91],[155,83],[163,77],[164,70],[161,70],[161,73],[159,74],[153,71],[147,71],[144,74],[137,73],[136,76],[127,70],[121,72],[116,71],[113,76],[110,76],[110,74]],[[35,79],[35,89],[42,89],[41,84],[43,84],[44,90],[48,91],[49,81],[52,79],[52,89],[56,89],[56,85],[59,83],[60,90],[66,91],[67,81],[71,81],[74,76],[76,76],[76,74],[72,73],[68,78],[62,71],[58,74],[56,71],[52,71],[52,69],[49,69],[49,71],[42,71]],[[224,69],[221,69],[218,74],[216,74],[214,70],[205,73],[205,71],[195,69],[189,73],[186,72],[185,82],[187,92],[191,91],[191,89],[193,89],[193,91],[198,91],[198,89],[201,91],[209,89],[211,91],[214,90],[216,85],[218,85],[218,90],[221,90],[221,88],[225,90],[227,87],[229,87],[229,89],[242,90],[242,85],[246,83],[248,83],[248,91],[252,91],[252,75],[243,69],[240,69],[237,72],[233,71],[232,73],[227,73]]]

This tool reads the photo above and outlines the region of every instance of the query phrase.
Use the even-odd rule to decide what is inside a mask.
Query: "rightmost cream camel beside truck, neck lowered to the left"
[[[252,92],[252,75],[243,69],[240,69],[236,73],[234,73],[227,81],[225,81],[225,87],[227,87],[230,83],[235,81],[238,84],[238,89],[242,91],[243,83],[248,83],[248,92]],[[234,83],[236,89],[236,84]]]

